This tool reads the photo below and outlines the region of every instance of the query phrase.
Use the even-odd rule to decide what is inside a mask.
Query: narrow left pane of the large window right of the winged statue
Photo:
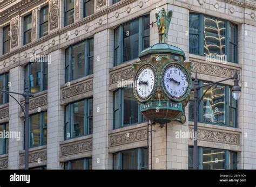
[[[190,14],[190,53],[199,54],[199,15]]]

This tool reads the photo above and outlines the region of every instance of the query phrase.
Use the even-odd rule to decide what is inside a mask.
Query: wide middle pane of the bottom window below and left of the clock
[[[138,149],[122,153],[122,169],[138,169]]]

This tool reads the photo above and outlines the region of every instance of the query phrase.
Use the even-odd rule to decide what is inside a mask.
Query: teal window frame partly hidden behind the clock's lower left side
[[[119,88],[117,90],[114,91],[113,96],[119,92],[119,107],[118,109],[115,109],[115,97],[113,97],[113,129],[117,129],[117,128],[122,128],[122,127],[127,127],[127,126],[131,126],[131,125],[137,125],[140,123],[144,123],[144,118],[142,113],[140,113],[140,108],[139,108],[139,104],[138,104],[138,122],[137,123],[133,123],[133,124],[129,124],[129,125],[124,125],[124,89],[126,88]],[[119,124],[120,125],[116,125],[116,119],[115,119],[115,112],[119,111]]]

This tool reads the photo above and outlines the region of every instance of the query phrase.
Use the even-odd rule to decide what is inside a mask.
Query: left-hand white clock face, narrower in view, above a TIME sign
[[[140,68],[136,75],[136,94],[140,100],[148,100],[156,86],[156,75],[151,66]]]

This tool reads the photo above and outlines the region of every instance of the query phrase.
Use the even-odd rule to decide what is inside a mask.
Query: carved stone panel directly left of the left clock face
[[[127,80],[132,78],[132,68],[124,68],[110,73],[110,84],[116,83],[118,81]]]

